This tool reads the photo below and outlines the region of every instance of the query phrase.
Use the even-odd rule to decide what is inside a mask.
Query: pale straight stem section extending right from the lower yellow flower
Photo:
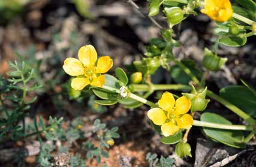
[[[218,128],[218,129],[248,130],[248,131],[252,130],[251,126],[246,126],[246,125],[226,125],[226,124],[221,124],[221,123],[203,122],[203,121],[198,121],[198,120],[194,120],[193,125],[194,126],[203,126],[203,127],[213,127],[213,128]]]

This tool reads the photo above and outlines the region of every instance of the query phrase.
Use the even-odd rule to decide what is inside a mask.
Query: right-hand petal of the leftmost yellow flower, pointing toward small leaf
[[[113,66],[113,60],[109,56],[102,56],[97,62],[96,73],[108,72]]]

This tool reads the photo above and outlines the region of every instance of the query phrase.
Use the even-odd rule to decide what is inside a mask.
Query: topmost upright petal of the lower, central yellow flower
[[[165,92],[162,95],[162,98],[158,101],[158,105],[165,111],[171,111],[174,107],[175,99],[171,93]]]

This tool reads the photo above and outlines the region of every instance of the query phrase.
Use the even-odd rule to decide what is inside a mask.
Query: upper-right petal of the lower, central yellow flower
[[[175,102],[175,114],[185,114],[189,111],[191,107],[190,99],[187,99],[185,96],[178,98]]]

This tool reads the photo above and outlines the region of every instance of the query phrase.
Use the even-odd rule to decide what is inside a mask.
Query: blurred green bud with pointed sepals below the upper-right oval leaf
[[[218,71],[227,60],[227,58],[222,58],[213,54],[208,48],[204,48],[203,66],[210,71]]]

